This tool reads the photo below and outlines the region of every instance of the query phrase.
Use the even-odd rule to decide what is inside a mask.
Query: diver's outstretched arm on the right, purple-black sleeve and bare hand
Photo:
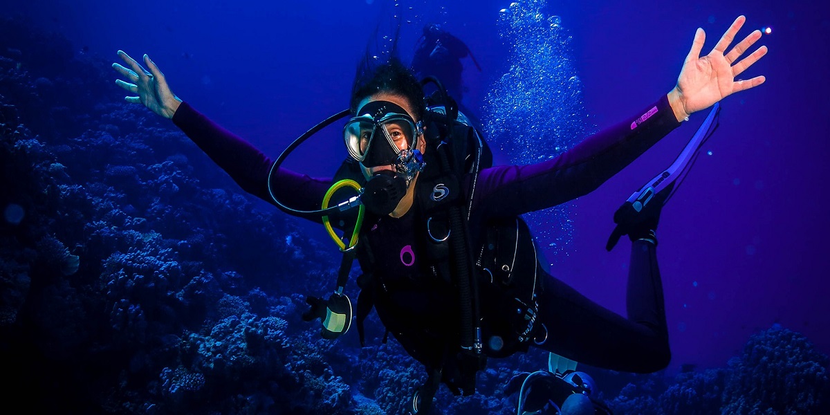
[[[764,83],[764,76],[735,81],[736,76],[766,54],[766,46],[761,46],[738,61],[759,40],[760,31],[750,33],[724,55],[745,20],[738,17],[709,55],[702,57],[706,36],[698,29],[677,85],[655,105],[593,134],[555,159],[483,170],[478,183],[471,185],[476,189],[473,203],[480,207],[482,215],[499,216],[531,212],[579,198],[631,164],[692,113]]]

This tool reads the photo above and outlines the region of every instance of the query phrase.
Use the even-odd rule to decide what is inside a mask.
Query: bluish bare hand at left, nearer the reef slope
[[[125,96],[124,99],[134,104],[144,104],[149,110],[164,118],[173,118],[173,114],[178,110],[178,105],[181,104],[182,100],[179,100],[170,91],[170,87],[167,85],[167,81],[164,80],[164,74],[159,71],[159,67],[153,61],[150,61],[147,55],[144,55],[144,64],[147,65],[149,71],[145,71],[139,65],[139,62],[129,57],[124,51],[118,51],[118,56],[121,56],[121,59],[131,69],[117,63],[112,64],[115,71],[119,71],[121,75],[129,80],[129,82],[115,80],[115,84],[139,95]]]

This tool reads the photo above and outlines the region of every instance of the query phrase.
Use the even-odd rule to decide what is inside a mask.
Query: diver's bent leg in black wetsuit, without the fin
[[[671,359],[656,246],[632,242],[627,315],[588,300],[553,276],[542,280],[540,323],[549,331],[539,347],[577,362],[623,372],[652,373]]]

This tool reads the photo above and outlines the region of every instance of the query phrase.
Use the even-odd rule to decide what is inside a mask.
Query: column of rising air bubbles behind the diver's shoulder
[[[554,159],[592,134],[588,126],[573,52],[563,40],[561,18],[544,2],[512,2],[500,10],[499,37],[511,46],[508,69],[486,96],[486,133],[505,151],[510,164]],[[539,223],[536,236],[548,255],[568,256],[574,237],[569,205],[528,214]],[[553,242],[555,241],[555,242]]]

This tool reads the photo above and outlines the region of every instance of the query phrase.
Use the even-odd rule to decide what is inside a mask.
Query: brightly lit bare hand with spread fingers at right
[[[683,62],[683,69],[677,78],[677,85],[669,93],[669,100],[672,102],[672,109],[675,110],[677,120],[682,120],[688,115],[706,110],[715,102],[741,90],[748,90],[766,81],[764,76],[755,76],[749,80],[735,81],[735,77],[746,71],[761,57],[766,55],[767,46],[761,46],[751,55],[738,61],[741,55],[751,47],[755,41],[761,38],[761,32],[756,30],[749,33],[743,41],[740,41],[729,53],[726,48],[735,39],[735,35],[744,26],[746,17],[739,16],[732,23],[732,26],[720,38],[715,48],[709,55],[700,57],[703,43],[706,40],[706,33],[703,29],[697,29],[695,41],[691,45],[691,51]],[[736,62],[737,61],[737,62]],[[674,96],[672,96],[674,95]],[[679,108],[676,108],[679,106]]]

